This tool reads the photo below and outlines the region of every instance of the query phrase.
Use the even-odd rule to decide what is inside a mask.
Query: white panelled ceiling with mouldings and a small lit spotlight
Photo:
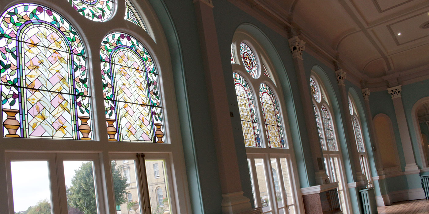
[[[311,40],[306,42],[360,82],[387,87],[409,74],[429,77],[429,29],[420,28],[429,21],[427,0],[240,2],[234,4],[249,14],[262,14],[265,23],[292,28]]]

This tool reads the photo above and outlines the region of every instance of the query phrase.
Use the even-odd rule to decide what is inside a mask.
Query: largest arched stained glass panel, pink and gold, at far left
[[[10,7],[0,20],[5,136],[91,140],[86,53],[73,26],[33,3]]]

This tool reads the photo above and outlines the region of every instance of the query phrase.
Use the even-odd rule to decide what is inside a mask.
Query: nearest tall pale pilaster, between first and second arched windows
[[[205,71],[208,100],[216,155],[221,180],[222,212],[237,214],[252,209],[250,199],[243,196],[233,126],[228,107],[227,89],[222,72],[213,4],[209,0],[194,0],[199,29],[202,61]]]

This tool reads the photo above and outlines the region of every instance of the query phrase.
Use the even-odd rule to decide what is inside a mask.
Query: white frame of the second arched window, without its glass
[[[240,74],[243,78],[245,78],[246,82],[249,84],[249,87],[251,89],[251,93],[253,94],[254,100],[255,100],[255,108],[256,108],[256,115],[258,117],[258,122],[259,122],[259,128],[260,128],[260,144],[262,146],[262,148],[257,148],[257,147],[246,147],[246,153],[247,153],[247,157],[248,157],[248,162],[250,163],[250,172],[251,172],[251,181],[252,181],[252,190],[254,192],[254,203],[255,203],[255,207],[262,207],[261,205],[261,201],[258,200],[260,199],[260,193],[259,193],[259,185],[257,183],[257,176],[256,176],[256,169],[255,169],[255,163],[254,163],[254,159],[255,158],[263,158],[264,160],[264,170],[265,170],[265,176],[266,176],[266,181],[267,181],[267,190],[269,191],[269,202],[271,203],[270,207],[271,210],[270,211],[266,211],[263,212],[263,214],[266,213],[272,213],[272,214],[278,214],[279,210],[282,208],[285,208],[286,212],[287,212],[287,206],[285,205],[286,203],[284,202],[284,206],[278,208],[277,205],[277,199],[276,199],[276,191],[275,191],[275,186],[274,186],[274,178],[272,176],[272,170],[271,170],[271,164],[267,165],[270,160],[270,158],[286,158],[288,161],[288,169],[290,170],[289,172],[289,179],[291,182],[291,192],[292,192],[292,198],[293,198],[293,204],[290,205],[294,205],[294,212],[295,213],[300,213],[301,211],[303,211],[304,206],[302,203],[302,196],[301,196],[301,192],[300,192],[300,188],[299,188],[299,178],[298,178],[298,173],[295,173],[292,171],[292,169],[296,169],[296,162],[295,162],[295,156],[294,156],[294,152],[293,152],[293,145],[292,145],[292,139],[290,136],[290,127],[289,127],[289,123],[287,120],[287,113],[285,110],[285,103],[284,103],[284,95],[281,89],[281,83],[278,82],[278,77],[276,76],[275,72],[271,72],[273,65],[272,63],[269,61],[269,57],[267,55],[267,53],[264,51],[262,45],[260,45],[254,38],[252,38],[251,36],[249,36],[250,34],[245,32],[244,30],[237,30],[236,33],[233,36],[233,57],[234,57],[234,61],[236,63],[232,63],[232,68],[233,68],[233,72]],[[252,52],[255,55],[255,58],[257,59],[258,62],[258,71],[259,74],[257,74],[256,78],[251,77],[250,74],[248,74],[248,72],[246,71],[244,65],[242,65],[242,60],[240,57],[240,51],[239,51],[239,47],[240,47],[240,43],[244,42],[246,43],[246,45],[248,45]],[[237,48],[238,47],[238,48]],[[263,74],[263,65],[265,65],[267,72],[270,74],[270,77],[266,76]],[[233,78],[233,74],[231,73],[231,78]],[[268,146],[268,141],[267,141],[267,134],[266,134],[266,127],[263,121],[263,110],[262,110],[262,106],[260,103],[260,98],[259,98],[259,87],[261,83],[265,83],[267,84],[272,92],[274,93],[274,97],[275,99],[277,99],[278,105],[279,105],[279,112],[281,115],[281,123],[283,126],[283,133],[284,133],[284,141],[285,141],[285,147],[287,149],[280,149],[280,148],[269,148]],[[232,92],[234,93],[234,95],[236,95],[236,92]],[[280,162],[278,161],[278,164],[280,164]],[[280,166],[278,166],[278,169]],[[269,169],[269,170],[268,170]],[[279,170],[277,170],[277,174],[278,174],[278,183],[279,183],[279,187],[281,190],[281,194],[282,197],[284,199],[284,201],[287,200],[286,193],[284,191],[284,188],[282,190],[282,187],[284,185],[283,182],[283,178],[280,178],[282,176],[280,176]]]

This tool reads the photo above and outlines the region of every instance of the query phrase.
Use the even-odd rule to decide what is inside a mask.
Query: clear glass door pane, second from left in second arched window
[[[259,193],[261,197],[260,200],[261,200],[262,211],[263,212],[270,211],[271,207],[269,202],[269,193],[267,188],[263,159],[255,159],[255,168],[256,168],[256,175],[258,179]]]

